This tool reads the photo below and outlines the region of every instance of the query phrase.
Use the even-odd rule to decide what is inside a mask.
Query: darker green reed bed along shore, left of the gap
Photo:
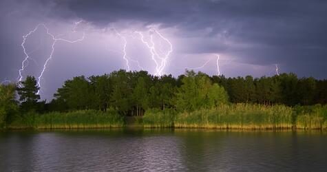
[[[125,120],[116,111],[72,111],[67,113],[26,114],[14,120],[12,129],[90,129],[123,127]]]

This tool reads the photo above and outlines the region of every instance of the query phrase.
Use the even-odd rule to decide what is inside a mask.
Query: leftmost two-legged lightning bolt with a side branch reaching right
[[[82,21],[75,22],[75,25],[74,25],[74,28],[73,28],[72,32],[76,32],[76,27],[77,27],[77,25],[80,24],[81,22],[82,22]],[[25,54],[25,58],[24,58],[24,60],[23,60],[22,63],[21,63],[21,69],[19,69],[19,80],[18,80],[18,81],[19,81],[19,87],[22,87],[22,86],[21,86],[21,81],[22,81],[22,79],[23,79],[23,76],[22,76],[21,72],[23,72],[23,70],[24,70],[25,67],[27,66],[27,65],[25,65],[25,62],[28,61],[28,59],[30,58],[30,56],[29,56],[28,53],[26,52],[26,49],[25,49],[25,46],[24,46],[25,41],[26,41],[26,39],[28,38],[28,36],[30,36],[31,34],[33,34],[34,32],[36,32],[36,30],[38,30],[39,27],[43,27],[43,28],[46,30],[46,33],[47,33],[47,34],[52,38],[52,40],[53,40],[53,43],[52,43],[52,46],[51,46],[51,47],[52,47],[52,50],[51,50],[51,52],[50,52],[50,56],[49,56],[49,57],[47,58],[47,60],[45,61],[44,65],[43,65],[43,68],[42,68],[42,71],[41,71],[41,74],[39,75],[38,80],[37,80],[37,85],[38,85],[38,87],[40,87],[40,89],[41,89],[41,79],[42,79],[43,73],[45,72],[45,69],[46,69],[47,66],[48,66],[48,62],[49,62],[49,61],[52,59],[52,57],[53,57],[53,54],[54,54],[54,46],[56,45],[56,42],[58,42],[58,41],[63,41],[63,42],[66,42],[66,43],[76,43],[76,42],[79,42],[79,41],[83,41],[83,40],[85,39],[85,31],[83,32],[83,36],[82,36],[81,39],[76,39],[76,40],[74,40],[74,41],[70,41],[70,40],[67,40],[67,39],[56,38],[56,36],[54,36],[54,34],[51,34],[51,33],[49,32],[49,28],[48,28],[45,24],[43,24],[43,23],[40,23],[40,24],[36,25],[36,27],[34,28],[34,30],[28,32],[28,34],[25,34],[25,35],[23,36],[23,43],[21,43],[21,47],[23,47],[23,52],[24,52],[24,54]],[[58,35],[58,36],[60,36],[60,35]],[[38,90],[38,92],[37,92],[36,94],[39,94],[39,93],[40,93],[40,89]]]

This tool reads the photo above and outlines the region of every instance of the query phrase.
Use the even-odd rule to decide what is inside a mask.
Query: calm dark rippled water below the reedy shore
[[[319,131],[0,132],[0,171],[327,171]]]

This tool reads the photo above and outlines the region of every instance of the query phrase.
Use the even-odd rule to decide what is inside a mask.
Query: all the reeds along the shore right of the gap
[[[327,106],[286,107],[249,104],[220,105],[213,109],[175,113],[149,111],[144,127],[204,129],[327,129]]]

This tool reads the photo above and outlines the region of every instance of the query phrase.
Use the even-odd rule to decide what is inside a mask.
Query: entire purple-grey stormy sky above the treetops
[[[185,68],[218,74],[218,54],[220,74],[225,76],[272,76],[277,64],[280,73],[323,79],[326,9],[324,0],[1,0],[0,81],[17,81],[25,58],[23,35],[39,23],[57,39],[76,41],[54,44],[40,82],[41,97],[47,99],[67,78],[105,74],[128,69],[127,65],[151,74],[160,69],[161,74],[178,76]],[[159,57],[152,58],[139,32],[150,46],[152,36]],[[29,58],[23,78],[40,76],[53,43],[41,26],[26,37],[23,45]]]

